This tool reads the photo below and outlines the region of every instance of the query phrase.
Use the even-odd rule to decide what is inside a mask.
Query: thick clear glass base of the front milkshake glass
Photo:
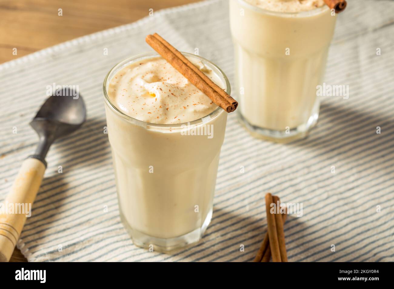
[[[191,243],[195,243],[201,239],[203,236],[206,228],[208,227],[209,223],[212,219],[212,209],[208,212],[206,216],[203,226],[201,228],[197,228],[187,234],[182,236],[169,238],[169,239],[162,239],[153,236],[149,236],[145,233],[139,232],[133,229],[126,221],[126,218],[123,216],[122,212],[120,212],[121,221],[123,226],[125,226],[126,231],[130,235],[133,240],[134,245],[151,249],[153,245],[153,250],[157,252],[168,252],[171,250],[179,249],[185,247]]]

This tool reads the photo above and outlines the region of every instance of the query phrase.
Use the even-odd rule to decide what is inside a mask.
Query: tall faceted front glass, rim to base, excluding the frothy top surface
[[[140,247],[168,251],[198,241],[210,223],[227,112],[180,124],[147,123],[127,116],[111,103],[108,85],[125,66],[156,53],[117,64],[104,80],[103,94],[121,220]],[[230,94],[226,75],[210,61]],[[209,134],[196,132],[209,131]]]

